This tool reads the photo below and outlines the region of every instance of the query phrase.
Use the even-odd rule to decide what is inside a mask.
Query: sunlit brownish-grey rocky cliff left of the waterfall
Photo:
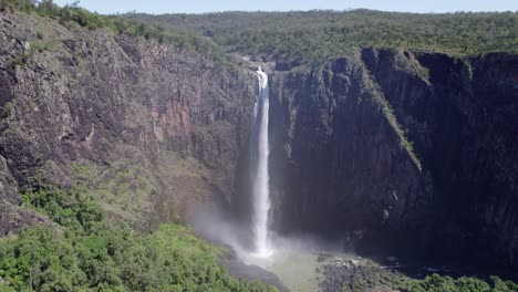
[[[143,228],[230,198],[252,73],[69,25],[0,12],[0,233],[32,220],[18,192],[44,185],[86,184],[111,216]]]

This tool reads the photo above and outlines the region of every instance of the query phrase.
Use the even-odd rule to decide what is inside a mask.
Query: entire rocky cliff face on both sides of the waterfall
[[[19,192],[48,184],[86,184],[141,228],[215,196],[247,217],[249,69],[8,12],[0,39],[0,234],[45,222]],[[279,232],[517,267],[516,55],[288,69],[269,72]]]

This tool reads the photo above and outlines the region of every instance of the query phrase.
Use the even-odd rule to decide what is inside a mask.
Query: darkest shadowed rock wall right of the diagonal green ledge
[[[518,59],[383,51],[363,56],[432,175],[437,244],[516,264]],[[416,61],[428,71],[425,84],[394,65]]]

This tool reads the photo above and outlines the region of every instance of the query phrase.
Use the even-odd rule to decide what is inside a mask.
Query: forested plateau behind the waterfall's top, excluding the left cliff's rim
[[[149,15],[132,20],[184,28],[228,52],[305,63],[377,46],[456,55],[518,53],[518,13],[416,14],[352,11],[222,12]]]

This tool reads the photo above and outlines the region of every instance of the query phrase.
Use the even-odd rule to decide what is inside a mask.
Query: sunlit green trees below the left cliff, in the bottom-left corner
[[[25,194],[55,226],[0,239],[1,291],[276,291],[217,264],[222,249],[177,225],[142,234],[58,188]]]

